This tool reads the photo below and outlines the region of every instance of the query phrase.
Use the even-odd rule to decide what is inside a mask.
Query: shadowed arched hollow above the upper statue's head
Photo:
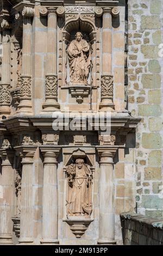
[[[90,21],[84,21],[81,17],[78,17],[77,20],[71,20],[67,22],[65,26],[65,39],[67,41],[71,40],[71,35],[75,34],[75,32],[80,31],[89,36],[90,42],[93,43],[96,39],[95,27]]]

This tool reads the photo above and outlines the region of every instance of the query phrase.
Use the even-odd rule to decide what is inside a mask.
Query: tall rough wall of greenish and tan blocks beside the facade
[[[162,8],[162,0],[128,1],[128,109],[141,118],[136,131],[137,212],[151,217],[162,217],[163,206]]]

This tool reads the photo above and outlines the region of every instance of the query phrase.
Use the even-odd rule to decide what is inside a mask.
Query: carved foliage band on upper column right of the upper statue
[[[102,99],[113,98],[113,76],[103,75],[101,77],[101,97]]]

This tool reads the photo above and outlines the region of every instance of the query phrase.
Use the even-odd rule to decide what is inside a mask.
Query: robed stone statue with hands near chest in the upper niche
[[[81,32],[76,33],[76,39],[68,46],[70,63],[70,78],[72,83],[87,84],[91,66],[90,45],[83,39]]]

